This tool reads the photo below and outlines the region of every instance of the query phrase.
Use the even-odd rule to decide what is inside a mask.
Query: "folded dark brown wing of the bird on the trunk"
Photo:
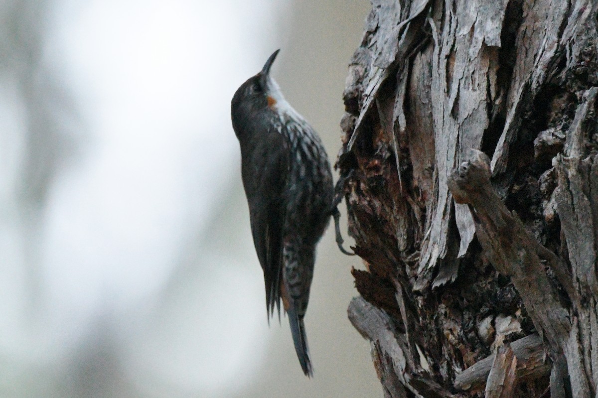
[[[280,317],[280,281],[283,268],[283,235],[286,219],[286,185],[289,174],[289,148],[276,128],[269,128],[255,146],[248,166],[254,194],[249,197],[249,215],[255,250],[264,270],[268,316],[274,306]]]

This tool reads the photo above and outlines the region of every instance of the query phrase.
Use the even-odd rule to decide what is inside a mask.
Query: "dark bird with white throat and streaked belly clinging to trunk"
[[[312,377],[303,319],[316,246],[330,216],[337,220],[338,203],[320,137],[270,75],[279,51],[234,93],[231,120],[241,150],[252,237],[264,273],[267,319],[270,323],[276,308],[280,320],[282,302],[301,369]]]

